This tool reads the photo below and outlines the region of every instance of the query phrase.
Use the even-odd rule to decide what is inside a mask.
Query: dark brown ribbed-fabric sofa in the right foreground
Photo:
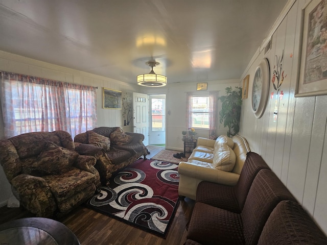
[[[256,153],[236,186],[201,182],[186,245],[327,244],[327,237]]]

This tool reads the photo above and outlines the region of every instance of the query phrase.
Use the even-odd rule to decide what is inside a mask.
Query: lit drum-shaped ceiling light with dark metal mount
[[[146,62],[151,67],[149,74],[141,74],[137,76],[137,84],[146,87],[164,87],[167,85],[167,77],[164,75],[157,75],[153,71],[153,67],[159,64],[155,60]]]

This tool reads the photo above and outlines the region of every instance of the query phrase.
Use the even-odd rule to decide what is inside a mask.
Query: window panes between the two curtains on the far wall
[[[209,128],[209,96],[192,96],[192,127]]]

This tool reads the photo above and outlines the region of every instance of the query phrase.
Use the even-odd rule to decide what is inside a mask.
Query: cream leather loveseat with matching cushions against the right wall
[[[236,185],[249,151],[246,139],[240,135],[221,135],[216,140],[199,137],[188,162],[179,163],[178,194],[196,200],[201,181]]]

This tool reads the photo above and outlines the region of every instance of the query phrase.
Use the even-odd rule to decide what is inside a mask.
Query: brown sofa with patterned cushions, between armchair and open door
[[[148,153],[144,135],[124,132],[120,127],[99,127],[75,136],[76,151],[95,156],[102,185],[107,185],[112,173],[133,163]]]

